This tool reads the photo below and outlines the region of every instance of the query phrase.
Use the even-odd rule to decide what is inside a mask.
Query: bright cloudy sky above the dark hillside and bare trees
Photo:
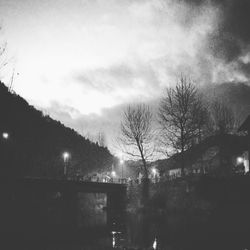
[[[156,107],[181,74],[249,82],[248,0],[0,0],[0,76],[45,114],[118,154],[122,111]]]

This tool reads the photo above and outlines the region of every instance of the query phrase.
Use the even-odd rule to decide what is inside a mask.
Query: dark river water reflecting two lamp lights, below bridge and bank
[[[88,227],[93,230],[82,232],[80,241],[64,241],[43,246],[41,249],[250,249],[248,222],[246,224],[241,216],[236,215],[232,218],[232,214],[224,214],[222,218],[221,211],[206,219],[203,215],[191,216],[185,213],[182,215],[156,212],[113,214],[110,225],[107,225],[105,211],[98,209],[95,213],[96,216],[92,214],[94,216],[92,225],[91,216],[88,218]]]

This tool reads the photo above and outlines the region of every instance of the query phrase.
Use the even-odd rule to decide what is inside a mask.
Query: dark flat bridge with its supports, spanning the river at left
[[[81,193],[106,194],[107,223],[124,211],[127,186],[117,183],[62,179],[19,178],[0,180],[0,231],[13,228],[76,228]],[[57,219],[54,219],[54,217]],[[17,229],[18,230],[18,229]]]

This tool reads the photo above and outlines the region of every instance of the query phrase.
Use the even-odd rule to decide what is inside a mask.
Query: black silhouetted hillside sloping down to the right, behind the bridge
[[[85,139],[73,129],[44,116],[0,82],[1,175],[61,177],[62,153],[71,154],[69,175],[109,168],[107,148]],[[2,133],[9,134],[8,139]]]

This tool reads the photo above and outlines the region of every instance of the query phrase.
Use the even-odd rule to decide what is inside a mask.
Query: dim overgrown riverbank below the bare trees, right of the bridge
[[[201,196],[197,182],[185,179],[150,183],[149,200],[146,209],[158,213],[198,213],[209,214],[215,207],[214,202]],[[129,212],[145,209],[141,202],[142,184],[128,187]]]

